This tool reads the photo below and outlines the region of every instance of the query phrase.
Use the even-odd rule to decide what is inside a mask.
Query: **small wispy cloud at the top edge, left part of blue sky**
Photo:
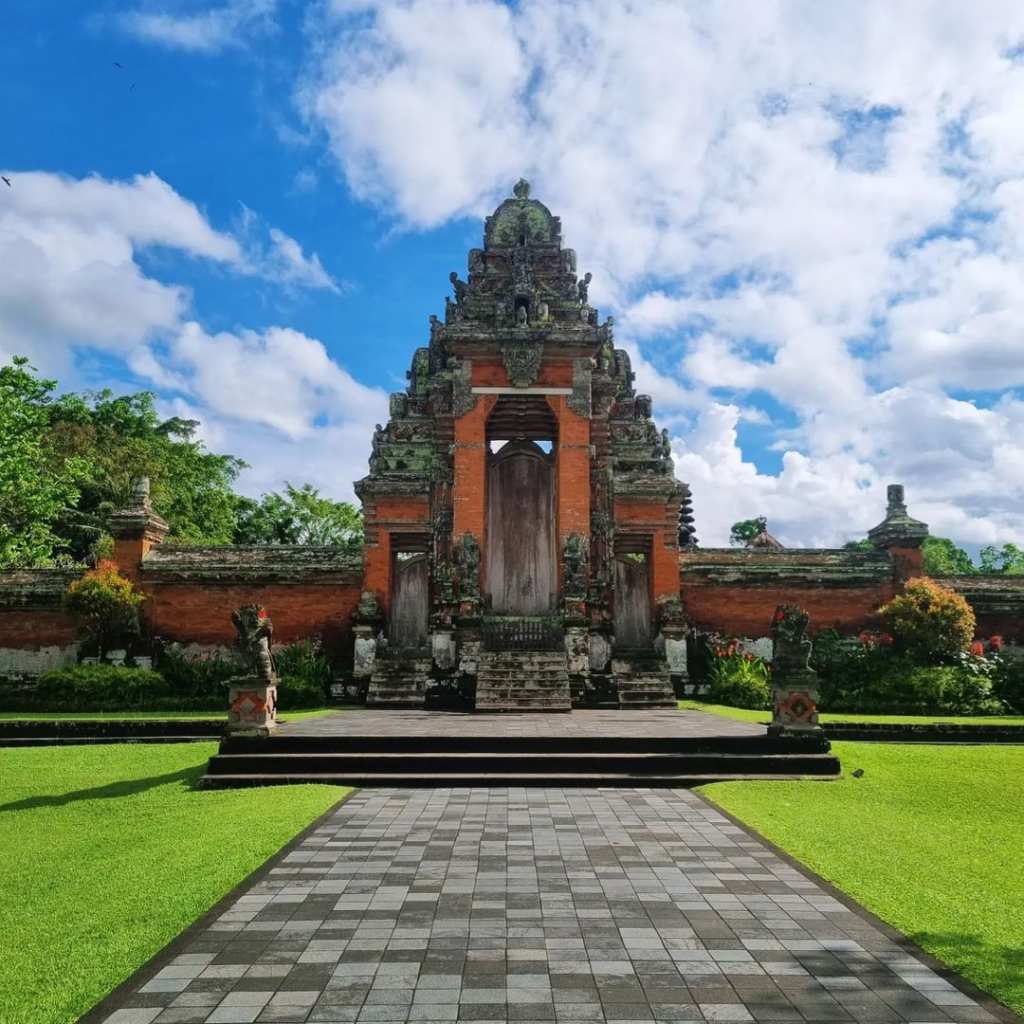
[[[191,53],[219,53],[275,28],[278,0],[231,0],[219,7],[180,12],[164,4],[124,11],[117,24],[143,42]]]

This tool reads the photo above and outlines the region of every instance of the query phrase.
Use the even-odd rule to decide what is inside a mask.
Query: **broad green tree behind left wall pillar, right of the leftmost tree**
[[[55,526],[75,557],[102,551],[111,514],[128,504],[140,476],[150,478],[154,509],[167,520],[172,541],[231,542],[232,484],[245,463],[208,452],[196,438],[198,426],[161,418],[147,391],[68,394],[52,403],[45,436],[52,457],[80,458],[90,467],[78,502]]]

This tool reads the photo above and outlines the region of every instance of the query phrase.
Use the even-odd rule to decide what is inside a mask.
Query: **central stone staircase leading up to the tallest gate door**
[[[566,669],[563,650],[481,651],[476,710],[571,711]]]

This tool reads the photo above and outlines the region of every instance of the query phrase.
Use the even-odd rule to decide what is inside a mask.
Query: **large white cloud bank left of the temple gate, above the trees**
[[[284,287],[338,292],[315,254],[245,208],[231,231],[218,230],[153,174],[4,173],[13,187],[0,208],[0,359],[27,354],[69,384],[76,353],[113,356],[175,415],[199,419],[212,446],[251,462],[250,483],[312,479],[350,494],[386,395],[291,328],[208,332],[188,290],[139,262],[161,247]],[[332,461],[342,475],[327,486]]]

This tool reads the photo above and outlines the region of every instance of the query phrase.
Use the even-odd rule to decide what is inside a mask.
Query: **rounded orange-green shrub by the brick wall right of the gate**
[[[918,665],[948,665],[974,637],[974,611],[967,600],[934,580],[911,580],[879,609],[897,651]]]

